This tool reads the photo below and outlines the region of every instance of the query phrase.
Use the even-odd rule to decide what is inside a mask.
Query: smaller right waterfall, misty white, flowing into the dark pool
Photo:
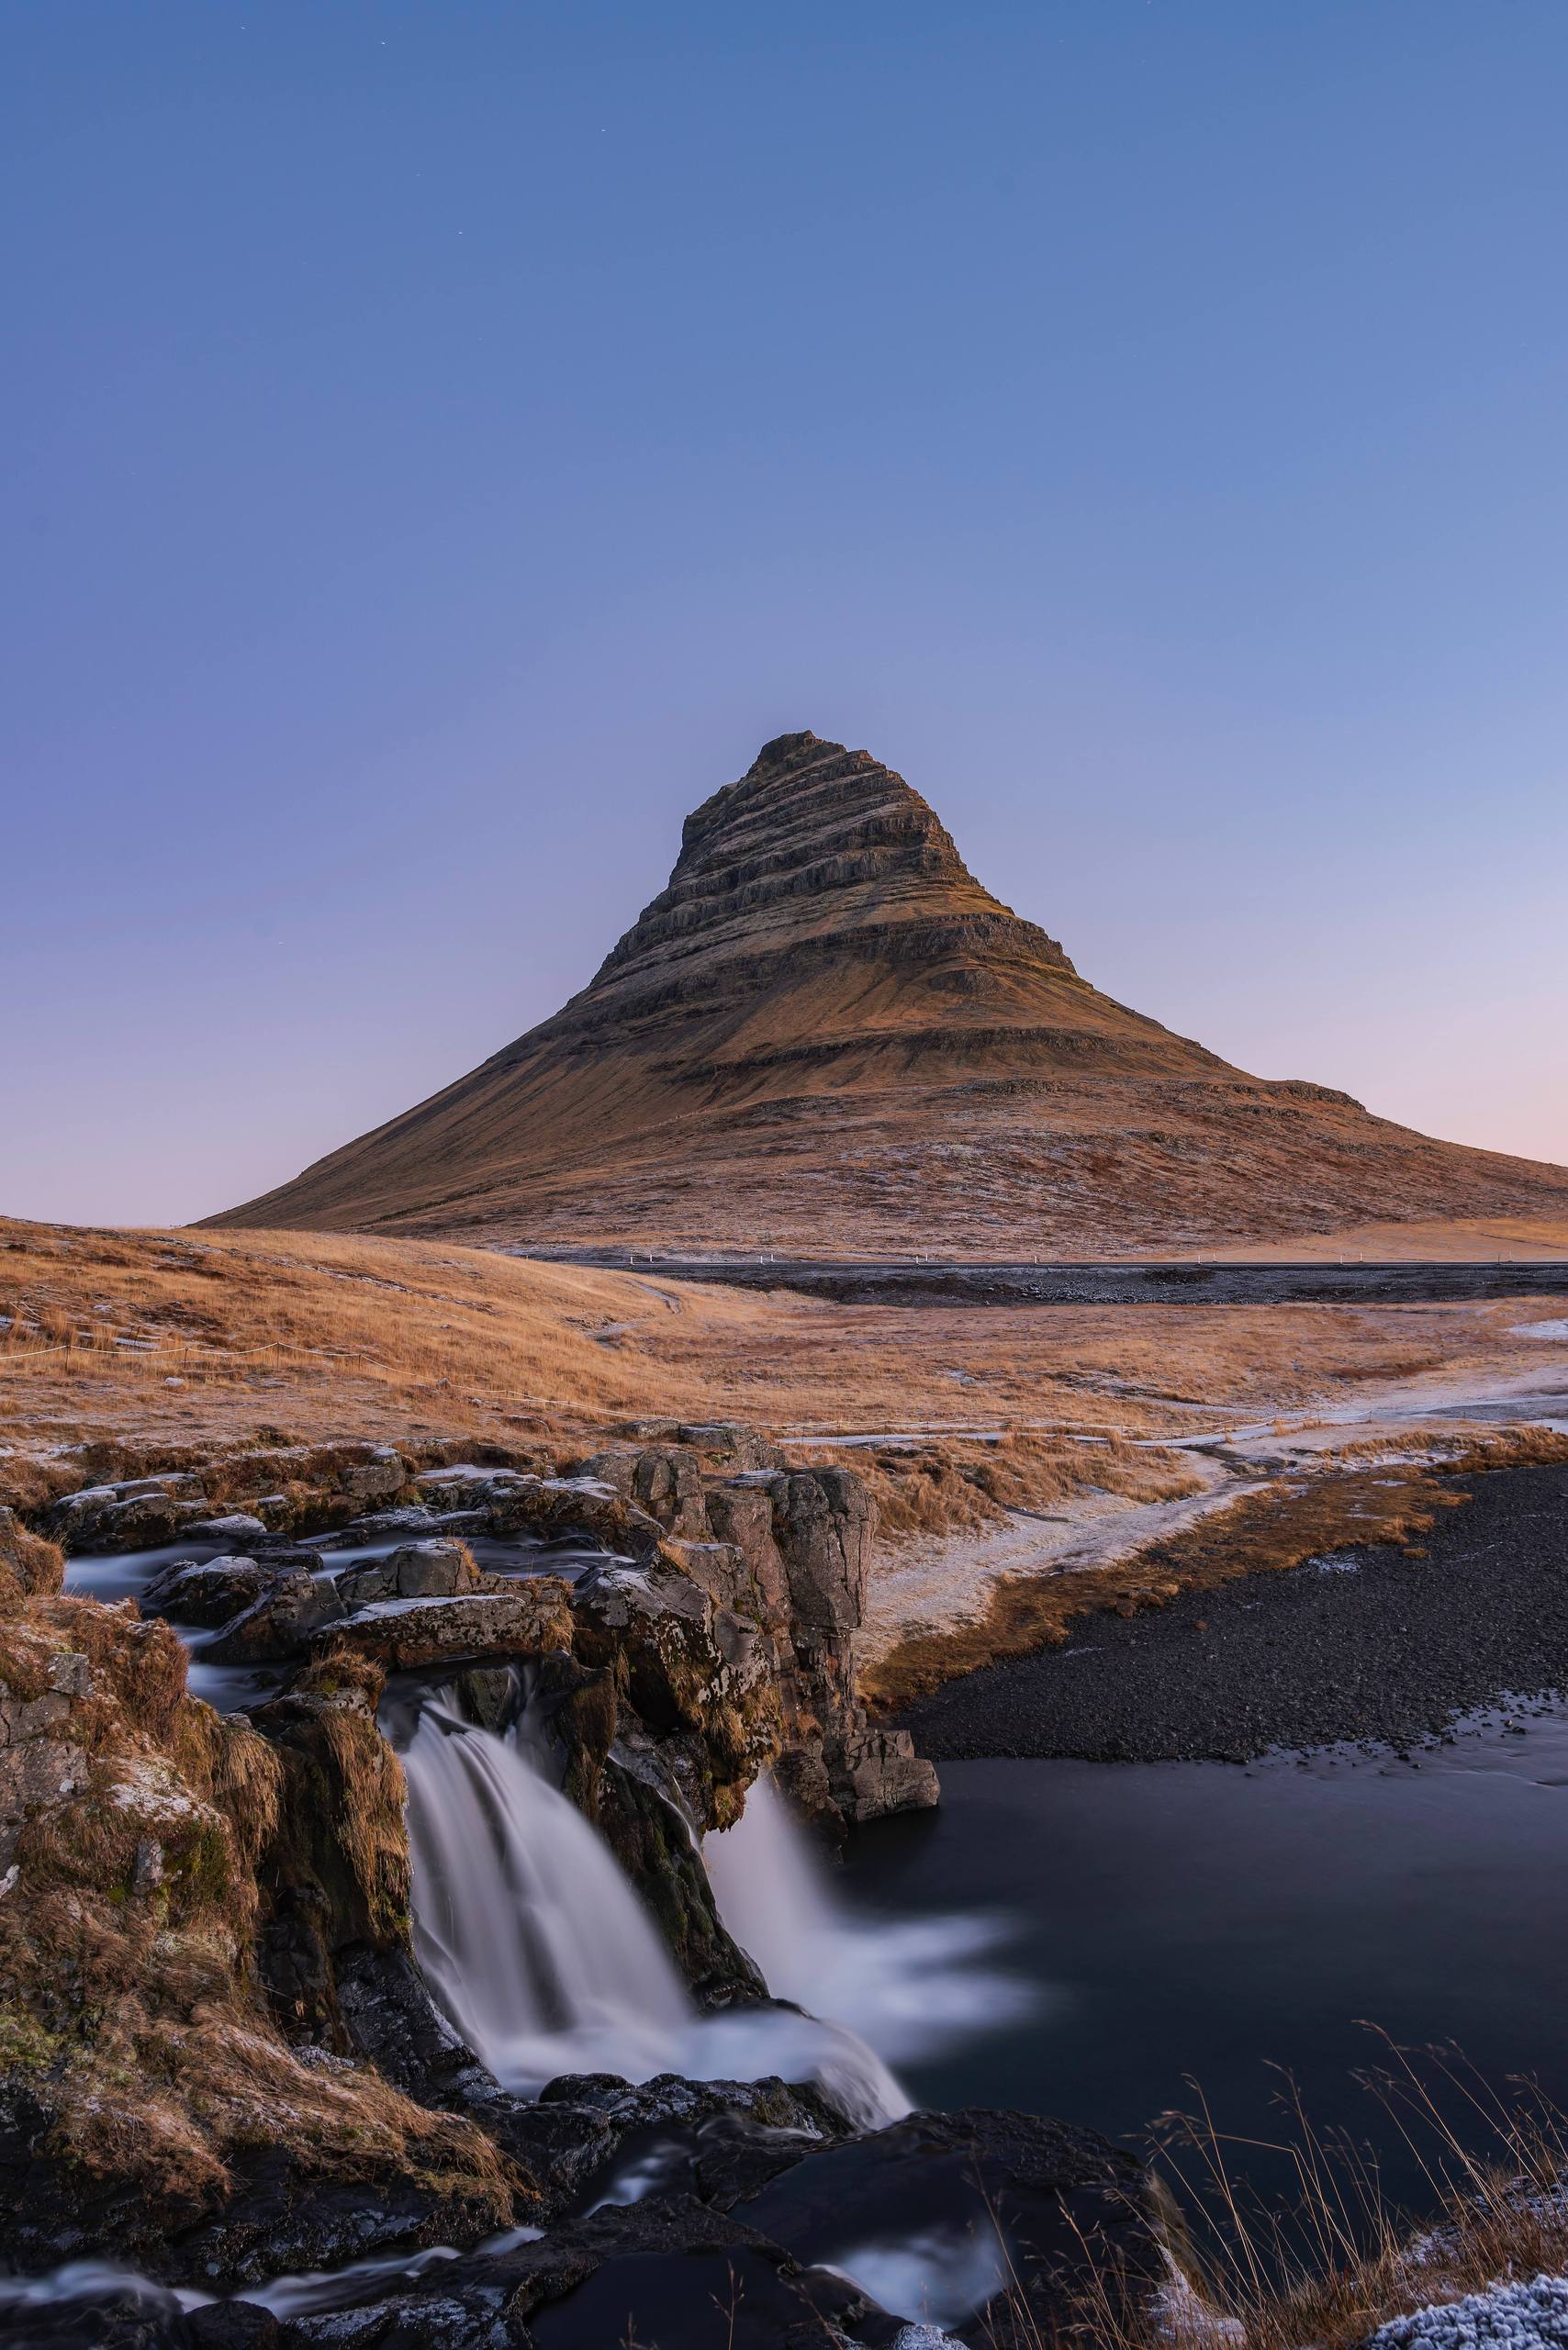
[[[851,1918],[771,1779],[703,1842],[719,1918],[769,1990],[839,2016],[903,2063],[1037,2007],[1037,1990],[978,1960],[1006,1932],[994,1918]]]

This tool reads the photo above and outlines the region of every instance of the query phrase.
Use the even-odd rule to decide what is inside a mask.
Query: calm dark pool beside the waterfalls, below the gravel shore
[[[856,1838],[860,1911],[992,1911],[1027,2023],[905,2066],[933,2106],[1025,2106],[1140,2141],[1194,2075],[1218,2124],[1276,2134],[1272,2066],[1321,2127],[1420,2174],[1352,2073],[1359,2019],[1458,2042],[1568,2106],[1568,1716],[1493,1718],[1420,1758],[947,1762],[943,1807]],[[1265,2155],[1241,2155],[1276,2183]]]

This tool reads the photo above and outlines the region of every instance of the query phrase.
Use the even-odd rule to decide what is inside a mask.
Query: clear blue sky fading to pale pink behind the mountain
[[[1568,1159],[1563,0],[0,0],[0,1208],[296,1173],[813,726]]]

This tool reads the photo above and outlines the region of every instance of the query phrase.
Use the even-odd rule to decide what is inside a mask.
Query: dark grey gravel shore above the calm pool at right
[[[1448,1480],[1427,1556],[1335,1551],[952,1680],[900,1716],[933,1760],[1222,1760],[1406,1748],[1505,1697],[1568,1690],[1568,1469]]]

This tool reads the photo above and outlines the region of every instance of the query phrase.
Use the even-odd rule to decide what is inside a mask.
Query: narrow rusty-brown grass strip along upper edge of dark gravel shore
[[[1166,1542],[1105,1567],[1004,1574],[985,1610],[971,1622],[912,1633],[865,1668],[860,1690],[882,1711],[929,1697],[945,1680],[1004,1657],[1027,1657],[1067,1638],[1074,1617],[1112,1607],[1135,1614],[1164,1607],[1180,1591],[1208,1591],[1239,1574],[1298,1567],[1324,1551],[1363,1542],[1413,1549],[1439,1509],[1467,1495],[1450,1492],[1420,1469],[1314,1471],[1262,1492],[1241,1495]]]

